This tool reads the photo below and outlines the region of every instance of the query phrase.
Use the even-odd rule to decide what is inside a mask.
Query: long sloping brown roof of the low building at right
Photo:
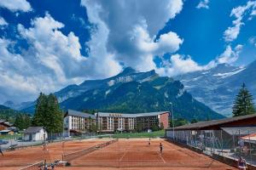
[[[220,120],[213,120],[213,121],[204,121],[204,122],[196,122],[193,124],[183,125],[180,127],[175,127],[175,130],[200,130],[211,128],[214,126],[222,127],[224,124],[231,123],[231,122],[241,122],[247,119],[256,118],[256,114],[246,115],[246,116],[236,116],[236,117],[229,117]],[[242,122],[241,122],[242,124]],[[256,123],[255,125],[256,126]]]

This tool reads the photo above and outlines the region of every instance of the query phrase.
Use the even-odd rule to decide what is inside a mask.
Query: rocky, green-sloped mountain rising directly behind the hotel
[[[155,71],[137,72],[130,67],[114,77],[69,85],[55,95],[64,110],[171,111],[172,103],[176,117],[188,120],[224,117],[194,99],[181,82],[160,77]]]

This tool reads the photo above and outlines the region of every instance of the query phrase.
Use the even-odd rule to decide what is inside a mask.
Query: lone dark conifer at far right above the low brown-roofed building
[[[253,114],[255,111],[253,107],[253,95],[247,90],[245,83],[242,84],[239,93],[233,105],[233,116],[243,116]]]

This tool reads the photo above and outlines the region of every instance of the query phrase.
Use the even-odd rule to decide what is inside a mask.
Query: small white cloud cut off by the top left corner
[[[29,12],[32,11],[32,7],[30,3],[28,3],[26,0],[1,0],[0,1],[0,7],[2,8],[8,8],[9,10],[16,12],[16,11],[22,11],[22,12]]]

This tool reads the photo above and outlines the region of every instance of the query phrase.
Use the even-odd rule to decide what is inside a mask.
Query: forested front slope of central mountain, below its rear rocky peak
[[[207,117],[224,118],[193,99],[181,82],[158,76],[146,82],[123,82],[106,88],[93,88],[63,101],[61,106],[86,112],[97,110],[117,113],[171,111],[173,106],[175,118],[183,117],[188,121],[194,117],[200,121]]]

